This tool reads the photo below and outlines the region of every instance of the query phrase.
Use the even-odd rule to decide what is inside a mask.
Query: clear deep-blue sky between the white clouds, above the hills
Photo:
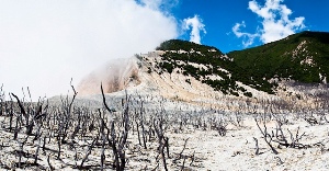
[[[216,46],[224,53],[239,50],[246,47],[262,45],[259,37],[253,44],[245,46],[242,41],[247,37],[238,38],[232,27],[236,23],[245,21],[246,27],[240,27],[241,32],[257,33],[262,27],[263,19],[249,9],[251,0],[179,0],[178,5],[172,8],[172,14],[179,20],[198,15],[204,24],[206,33],[201,32],[201,44]],[[259,5],[265,5],[266,0],[254,0]],[[304,18],[304,27],[293,29],[295,33],[300,31],[324,31],[329,32],[329,1],[328,0],[282,0],[280,5],[286,5],[292,14],[290,20]],[[189,39],[189,32],[180,35],[179,38]]]

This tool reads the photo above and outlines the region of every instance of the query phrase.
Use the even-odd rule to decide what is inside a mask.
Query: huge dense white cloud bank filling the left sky
[[[146,0],[145,0],[146,2]],[[110,58],[154,49],[178,36],[162,1],[0,0],[0,86],[21,94],[66,94]]]

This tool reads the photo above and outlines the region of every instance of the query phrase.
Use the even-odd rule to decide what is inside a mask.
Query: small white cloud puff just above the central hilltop
[[[202,19],[198,15],[188,18],[183,20],[183,30],[191,30],[190,42],[201,44],[201,32],[206,34],[205,25],[202,23]]]

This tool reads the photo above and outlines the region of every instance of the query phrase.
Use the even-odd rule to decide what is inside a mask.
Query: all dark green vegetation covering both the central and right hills
[[[191,76],[225,94],[252,96],[237,82],[274,93],[277,84],[273,79],[326,83],[329,76],[329,33],[324,32],[302,32],[227,55],[180,39],[163,42],[157,50],[166,52],[159,68]]]

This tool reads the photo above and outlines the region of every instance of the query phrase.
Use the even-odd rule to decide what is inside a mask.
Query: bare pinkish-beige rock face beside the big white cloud
[[[105,93],[138,86],[140,80],[136,59],[114,59],[109,61],[104,67],[94,70],[82,79],[78,86],[78,92],[81,95],[99,94],[101,92],[101,83]]]

